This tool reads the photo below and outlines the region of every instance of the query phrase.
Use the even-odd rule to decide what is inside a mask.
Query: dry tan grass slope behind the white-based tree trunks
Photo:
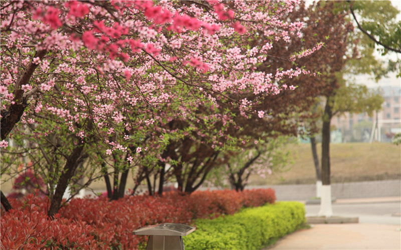
[[[306,184],[316,182],[309,143],[288,146],[293,164],[266,177],[253,175],[250,184]],[[317,145],[319,161],[321,144]],[[401,145],[391,143],[331,143],[331,180],[349,182],[401,178]]]

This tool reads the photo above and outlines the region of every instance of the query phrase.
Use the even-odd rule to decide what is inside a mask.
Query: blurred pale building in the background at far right
[[[381,86],[382,109],[369,117],[366,113],[345,113],[331,120],[332,142],[390,142],[401,132],[401,83]]]

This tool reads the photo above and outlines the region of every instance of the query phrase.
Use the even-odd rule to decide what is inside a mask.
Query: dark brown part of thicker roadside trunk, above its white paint
[[[333,97],[328,96],[324,107],[322,127],[322,184],[330,185],[330,122],[333,116]]]

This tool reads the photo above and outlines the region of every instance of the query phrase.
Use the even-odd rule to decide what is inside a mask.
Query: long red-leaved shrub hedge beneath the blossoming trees
[[[233,214],[242,207],[275,201],[273,189],[196,191],[191,195],[126,196],[72,199],[54,220],[47,218],[47,198],[29,195],[10,199],[13,207],[1,216],[2,249],[136,249],[146,236],[132,231],[150,224],[191,224],[195,218]]]

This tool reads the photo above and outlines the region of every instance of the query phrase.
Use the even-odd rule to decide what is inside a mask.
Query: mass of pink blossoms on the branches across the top
[[[288,23],[283,17],[293,1],[102,3],[13,1],[2,8],[1,26],[12,29],[1,37],[7,44],[2,46],[2,53],[7,54],[2,57],[2,105],[8,107],[15,101],[12,92],[15,75],[21,73],[22,67],[16,66],[21,58],[24,67],[38,65],[29,84],[20,86],[26,92],[35,91],[24,118],[28,123],[51,116],[64,129],[60,131],[82,138],[92,132],[86,130],[90,120],[103,141],[103,152],[111,154],[127,150],[128,143],[141,152],[146,143],[157,147],[158,136],[146,143],[137,139],[149,131],[182,136],[159,126],[185,117],[193,122],[191,130],[185,131],[187,135],[194,132],[213,140],[215,146],[224,146],[224,132],[233,117],[216,115],[220,103],[230,106],[239,101],[241,114],[257,113],[262,118],[266,110],[254,112],[257,100],[249,101],[245,96],[295,88],[280,87],[276,82],[308,73],[299,68],[258,69],[273,49],[275,37],[277,42],[291,42],[302,31],[303,23]],[[254,38],[261,30],[263,34]],[[243,40],[247,34],[251,34],[250,42]],[[36,45],[31,48],[26,44]],[[298,53],[297,58],[319,48]],[[32,58],[40,49],[49,52]],[[232,101],[230,96],[237,99]],[[205,117],[197,113],[203,107],[210,112]],[[222,130],[210,135],[198,127],[204,118],[222,122]],[[107,141],[111,136],[113,142]]]

